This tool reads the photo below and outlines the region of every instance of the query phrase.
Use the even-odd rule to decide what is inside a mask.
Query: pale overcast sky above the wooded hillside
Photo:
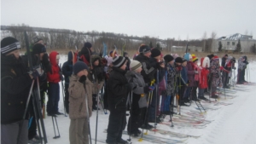
[[[256,0],[1,0],[1,25],[201,39],[256,38]]]

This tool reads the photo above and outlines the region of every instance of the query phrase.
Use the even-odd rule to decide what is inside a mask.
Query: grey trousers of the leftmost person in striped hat
[[[27,144],[27,125],[28,120],[22,120],[12,124],[1,124],[1,143],[2,144]],[[20,132],[20,138],[18,135]],[[19,142],[17,142],[19,141]]]

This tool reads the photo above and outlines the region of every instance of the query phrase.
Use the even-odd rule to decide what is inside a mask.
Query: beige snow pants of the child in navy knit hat
[[[89,144],[89,127],[87,118],[71,118],[69,126],[70,144]]]

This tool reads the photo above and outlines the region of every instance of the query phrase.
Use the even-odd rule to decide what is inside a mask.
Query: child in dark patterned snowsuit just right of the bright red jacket
[[[215,55],[210,62],[210,74],[211,74],[211,91],[212,98],[217,99],[218,95],[216,95],[217,87],[222,86],[222,78],[220,75],[220,66],[219,66],[219,58]]]

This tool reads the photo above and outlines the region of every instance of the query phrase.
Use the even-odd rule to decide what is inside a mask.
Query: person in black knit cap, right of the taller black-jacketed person
[[[154,72],[155,84],[158,84],[158,89],[157,90],[154,89],[153,91],[153,95],[152,95],[152,98],[150,99],[151,101],[150,101],[150,106],[148,111],[148,116],[149,116],[148,122],[151,122],[151,123],[155,123],[155,119],[156,119],[156,123],[161,122],[160,118],[157,117],[159,116],[157,113],[157,110],[155,110],[155,109],[158,109],[159,103],[160,103],[159,101],[160,101],[161,94],[159,90],[159,84],[165,76],[165,64],[162,60],[160,60],[160,57],[161,57],[160,49],[157,49],[157,48],[151,49],[149,62],[150,62],[150,65],[154,67],[154,70],[158,71],[158,73]]]

